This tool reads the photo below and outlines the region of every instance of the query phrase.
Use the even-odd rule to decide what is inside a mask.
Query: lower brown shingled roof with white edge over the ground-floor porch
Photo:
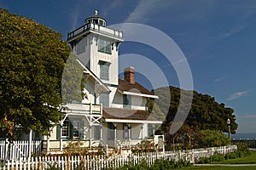
[[[102,116],[105,122],[133,122],[133,123],[154,123],[161,124],[148,111],[120,109],[120,108],[103,108]]]

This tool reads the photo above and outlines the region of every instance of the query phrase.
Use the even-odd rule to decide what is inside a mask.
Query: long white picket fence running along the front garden
[[[213,156],[215,153],[228,154],[236,151],[236,145],[222,147],[212,147],[196,150],[177,151],[153,151],[153,152],[125,152],[111,156],[87,155],[87,156],[35,156],[20,161],[1,161],[0,169],[108,169],[124,166],[137,165],[146,162],[148,166],[154,164],[156,160],[168,161],[189,161],[194,163],[201,157]]]

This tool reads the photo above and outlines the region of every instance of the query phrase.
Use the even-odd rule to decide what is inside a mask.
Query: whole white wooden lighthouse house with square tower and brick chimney
[[[78,139],[84,146],[130,146],[154,136],[154,125],[162,122],[148,112],[148,99],[158,97],[135,81],[132,66],[119,79],[119,44],[123,41],[123,32],[106,27],[106,20],[97,14],[68,33],[67,42],[87,77],[86,99],[63,105],[66,116],[44,137],[44,150],[62,150]]]

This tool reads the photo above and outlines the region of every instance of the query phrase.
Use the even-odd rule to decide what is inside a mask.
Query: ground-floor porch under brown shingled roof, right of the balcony
[[[143,140],[154,141],[154,144],[160,141],[154,129],[162,122],[148,111],[103,108],[102,119],[102,140],[110,147],[131,148]]]

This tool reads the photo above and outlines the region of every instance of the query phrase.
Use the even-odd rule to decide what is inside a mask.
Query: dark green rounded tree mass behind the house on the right
[[[159,95],[159,99],[155,100],[163,113],[166,113],[166,121],[162,125],[162,131],[166,131],[166,126],[173,122],[177,113],[178,105],[186,105],[186,97],[180,101],[180,92],[183,89],[174,87],[165,87],[154,89],[154,93]],[[189,95],[189,91],[183,90],[183,94]],[[171,94],[171,96],[169,96]],[[167,99],[170,99],[170,102]],[[180,108],[183,110],[183,108]],[[236,133],[238,127],[234,110],[225,107],[223,103],[218,102],[208,94],[199,94],[193,91],[193,101],[189,115],[187,116],[185,125],[192,129],[199,128],[200,130],[212,129],[228,133],[227,119],[230,119],[231,133]]]

